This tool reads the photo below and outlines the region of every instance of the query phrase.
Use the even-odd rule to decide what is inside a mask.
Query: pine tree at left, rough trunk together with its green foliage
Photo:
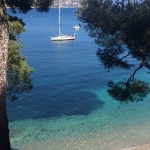
[[[9,95],[15,93],[11,98],[16,98],[16,94],[26,88],[31,88],[31,81],[28,76],[32,72],[32,69],[27,66],[24,57],[19,55],[20,46],[12,41],[12,39],[16,40],[20,31],[17,31],[15,27],[18,24],[17,22],[8,23],[10,18],[8,17],[6,6],[9,6],[14,13],[27,13],[32,6],[36,7],[38,11],[48,11],[51,3],[52,0],[0,0],[0,150],[11,149],[6,112],[7,84],[9,83],[8,91],[11,91],[8,92]],[[15,58],[16,63],[14,63],[14,55],[17,56],[17,59]],[[20,67],[22,67],[22,71],[17,74]],[[20,84],[21,89],[19,88]],[[15,89],[15,92],[12,92],[12,88],[13,90]]]

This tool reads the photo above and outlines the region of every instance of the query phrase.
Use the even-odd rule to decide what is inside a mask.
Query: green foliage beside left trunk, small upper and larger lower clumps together
[[[17,40],[19,35],[24,32],[23,21],[17,17],[9,16],[8,25],[10,40],[8,44],[7,95],[11,100],[15,100],[20,93],[28,92],[32,89],[30,76],[33,69],[27,65],[25,57],[19,52],[21,46]]]

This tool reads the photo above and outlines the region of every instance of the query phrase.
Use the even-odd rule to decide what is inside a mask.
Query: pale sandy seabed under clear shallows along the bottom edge
[[[14,144],[17,150],[150,150],[150,126],[143,124],[133,128],[127,127],[117,134],[113,131],[108,133],[94,133],[84,135],[71,135],[48,140],[35,141],[24,144]],[[135,132],[135,131],[139,132]],[[136,147],[138,146],[139,147]],[[144,145],[144,146],[140,146]]]

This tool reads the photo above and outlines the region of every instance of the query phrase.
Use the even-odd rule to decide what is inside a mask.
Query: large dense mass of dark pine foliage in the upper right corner
[[[79,20],[102,48],[122,48],[122,53],[150,61],[150,1],[85,0],[82,5]]]

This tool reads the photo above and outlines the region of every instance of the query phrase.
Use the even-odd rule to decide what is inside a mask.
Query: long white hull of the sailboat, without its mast
[[[68,41],[68,40],[75,40],[75,36],[61,35],[61,36],[51,37],[51,41]]]

